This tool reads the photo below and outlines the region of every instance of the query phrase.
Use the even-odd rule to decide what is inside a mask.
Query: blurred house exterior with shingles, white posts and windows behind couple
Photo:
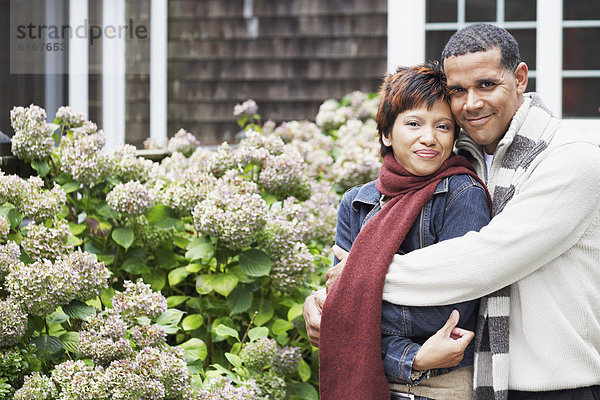
[[[108,146],[179,128],[232,142],[236,103],[252,98],[276,123],[314,120],[325,99],[439,59],[472,22],[508,29],[528,90],[600,132],[600,2],[589,0],[1,0],[0,131],[12,135],[14,105],[52,116],[68,104]]]

